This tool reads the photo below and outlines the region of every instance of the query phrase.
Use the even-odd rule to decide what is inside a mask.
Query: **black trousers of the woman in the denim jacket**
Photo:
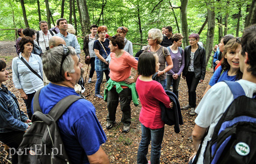
[[[8,145],[11,149],[12,155],[12,164],[17,164],[18,163],[18,154],[17,149],[19,148],[19,145],[22,142],[24,131],[11,131],[11,132],[6,132],[6,133],[0,133],[0,141],[3,142],[4,144]]]

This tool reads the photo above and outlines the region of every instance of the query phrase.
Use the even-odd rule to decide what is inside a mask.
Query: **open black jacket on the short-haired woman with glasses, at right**
[[[194,72],[195,76],[200,77],[201,80],[204,80],[205,71],[206,71],[206,61],[205,61],[205,49],[201,47],[198,43],[198,49],[194,55]],[[184,50],[184,57],[185,57],[185,67],[182,71],[182,76],[186,76],[188,73],[188,66],[190,62],[190,53],[191,53],[191,45],[187,46]]]

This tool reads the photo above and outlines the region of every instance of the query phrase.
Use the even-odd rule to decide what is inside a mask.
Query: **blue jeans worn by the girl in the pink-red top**
[[[137,164],[147,164],[148,145],[151,140],[151,164],[160,163],[161,144],[164,137],[164,127],[160,129],[150,129],[141,124],[141,140],[137,155]]]

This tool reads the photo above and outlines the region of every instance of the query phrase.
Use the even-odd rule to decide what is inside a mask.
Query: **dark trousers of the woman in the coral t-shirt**
[[[116,108],[118,106],[118,99],[120,97],[120,107],[123,112],[121,122],[124,126],[130,126],[131,124],[131,101],[132,101],[132,91],[130,88],[123,88],[120,93],[116,92],[116,88],[112,88],[108,91],[108,115],[107,122],[113,123],[116,121]]]

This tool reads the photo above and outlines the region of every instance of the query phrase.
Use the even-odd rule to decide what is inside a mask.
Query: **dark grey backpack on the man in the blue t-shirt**
[[[56,121],[71,104],[82,97],[69,95],[61,99],[48,114],[43,114],[38,100],[40,90],[34,97],[33,123],[24,134],[19,146],[19,151],[23,152],[18,157],[19,164],[68,164],[68,155]]]

